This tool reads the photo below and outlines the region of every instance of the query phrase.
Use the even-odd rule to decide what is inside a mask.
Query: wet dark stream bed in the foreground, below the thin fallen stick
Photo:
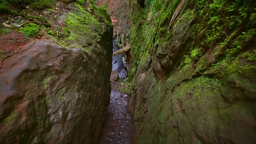
[[[108,118],[100,144],[131,144],[132,124],[127,112],[128,95],[112,90],[108,106]]]

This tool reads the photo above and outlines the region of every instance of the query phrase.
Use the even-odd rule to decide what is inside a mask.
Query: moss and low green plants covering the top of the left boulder
[[[106,6],[97,7],[94,0],[78,0],[74,2],[74,4],[80,13],[68,12],[64,20],[66,27],[58,26],[59,24],[56,23],[56,19],[61,15],[59,9],[56,10],[56,6],[61,5],[63,8],[63,4],[60,2],[52,0],[11,0],[7,2],[4,0],[0,3],[0,10],[4,13],[13,14],[14,16],[22,16],[22,19],[12,18],[12,20],[6,17],[5,21],[8,20],[9,23],[14,21],[21,24],[22,22],[24,23],[24,19],[33,22],[24,24],[19,30],[26,38],[36,38],[42,35],[42,33],[47,33],[49,37],[54,37],[61,46],[69,46],[74,42],[81,42],[81,40],[84,39],[82,36],[86,35],[83,40],[85,45],[82,44],[83,47],[85,47],[99,40],[103,32],[101,22],[107,25],[106,28],[108,28],[108,30],[112,26],[112,23],[106,12]],[[8,5],[16,7],[15,10],[10,9]],[[24,12],[21,12],[21,10]],[[36,13],[36,11],[32,10],[38,12]],[[54,14],[54,16],[52,16],[52,14]],[[15,27],[16,26],[13,25],[11,28],[8,28],[1,25],[0,34],[8,34],[12,29],[15,29]],[[41,30],[44,32],[41,32]]]

